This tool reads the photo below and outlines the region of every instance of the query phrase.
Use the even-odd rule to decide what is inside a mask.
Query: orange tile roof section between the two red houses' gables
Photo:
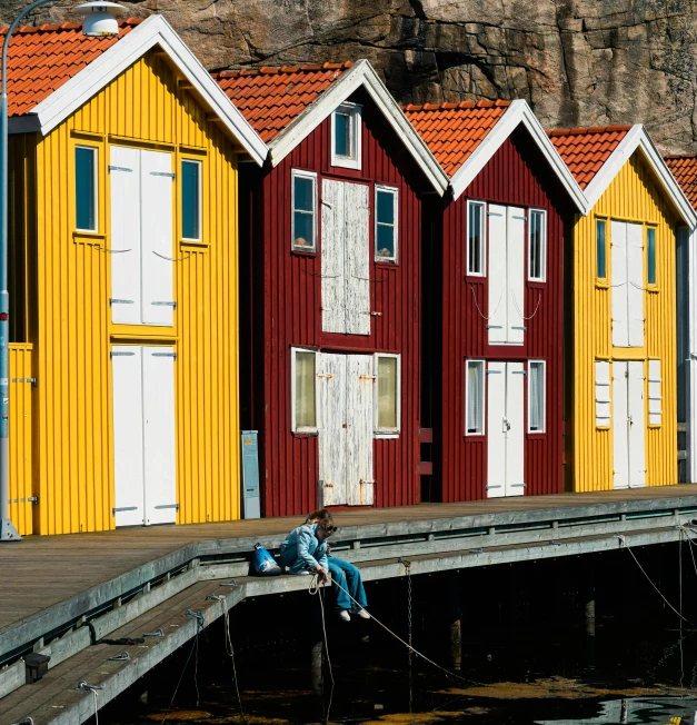
[[[452,177],[506,112],[510,101],[406,106],[404,111],[431,153]]]

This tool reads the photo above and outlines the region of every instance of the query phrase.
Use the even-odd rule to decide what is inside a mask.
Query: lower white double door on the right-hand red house
[[[487,497],[525,493],[525,367],[487,365]]]

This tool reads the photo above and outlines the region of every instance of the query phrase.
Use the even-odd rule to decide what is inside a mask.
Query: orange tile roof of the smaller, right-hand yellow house
[[[549,131],[549,140],[569,167],[578,186],[585,189],[629,130],[631,126],[557,129]]]

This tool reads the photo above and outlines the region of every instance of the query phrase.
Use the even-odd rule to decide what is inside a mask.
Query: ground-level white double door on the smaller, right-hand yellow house
[[[644,361],[613,362],[613,485],[646,485]]]

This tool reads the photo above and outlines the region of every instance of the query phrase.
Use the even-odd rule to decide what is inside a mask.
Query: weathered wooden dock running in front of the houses
[[[418,575],[673,542],[693,518],[697,485],[358,509],[336,514],[335,550],[370,580],[404,576],[400,557]],[[247,576],[253,544],[275,549],[301,520],[139,527],[3,544],[0,722],[27,715],[36,725],[84,722],[93,699],[76,689],[79,682],[99,684],[98,702],[109,702],[196,636],[199,622],[186,609],[200,612],[207,625],[246,597],[305,588],[306,577]],[[130,661],[110,661],[114,647],[93,644],[158,627],[167,636],[130,648]],[[51,669],[28,685],[21,658],[32,650],[50,654]]]

